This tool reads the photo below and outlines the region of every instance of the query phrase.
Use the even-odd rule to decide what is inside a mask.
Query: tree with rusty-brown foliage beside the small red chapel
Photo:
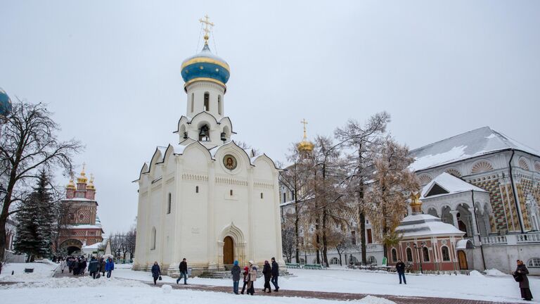
[[[399,241],[395,230],[406,215],[409,195],[420,188],[416,175],[409,169],[412,162],[409,149],[390,138],[375,158],[373,183],[366,193],[367,211],[373,231],[382,232],[375,236],[383,242],[385,257],[387,246]]]

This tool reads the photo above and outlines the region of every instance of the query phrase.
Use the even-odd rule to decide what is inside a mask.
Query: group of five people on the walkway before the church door
[[[238,285],[240,284],[240,273],[243,274],[243,286],[241,294],[244,294],[246,291],[249,295],[253,296],[255,293],[255,281],[257,281],[257,266],[254,265],[254,262],[250,260],[249,266],[244,267],[244,271],[240,270],[238,261],[234,261],[234,265],[231,269],[231,274],[233,275],[233,293],[238,293]],[[262,274],[264,275],[264,289],[263,292],[271,293],[272,289],[270,282],[274,284],[274,291],[279,291],[278,286],[278,277],[279,277],[279,265],[276,262],[276,258],[271,258],[271,264],[268,260],[264,261],[264,266],[262,267]],[[247,289],[246,289],[247,287]]]

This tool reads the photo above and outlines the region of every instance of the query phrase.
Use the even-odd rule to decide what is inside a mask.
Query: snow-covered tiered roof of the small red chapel
[[[442,222],[439,217],[427,214],[407,215],[401,220],[396,232],[400,233],[404,238],[439,235],[463,236],[465,234],[454,225]]]

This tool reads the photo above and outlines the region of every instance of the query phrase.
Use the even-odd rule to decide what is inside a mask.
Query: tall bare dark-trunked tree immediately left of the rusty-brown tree
[[[360,227],[360,243],[362,264],[366,265],[366,182],[371,179],[373,159],[385,141],[385,133],[390,114],[377,113],[364,124],[356,120],[349,120],[344,127],[335,129],[335,137],[340,144],[347,148],[349,160],[348,191],[356,201],[356,220]]]

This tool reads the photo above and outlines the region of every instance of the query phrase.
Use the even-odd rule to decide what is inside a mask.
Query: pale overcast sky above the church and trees
[[[275,160],[302,118],[313,137],[381,110],[411,148],[489,125],[540,150],[540,1],[314,2],[0,0],[0,87],[86,144],[107,233],[134,223],[131,181],[177,141],[206,13],[233,139]]]

